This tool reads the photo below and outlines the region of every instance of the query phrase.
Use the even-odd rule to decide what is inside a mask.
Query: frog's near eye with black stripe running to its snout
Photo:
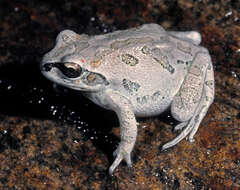
[[[44,72],[50,72],[54,67],[58,68],[62,74],[68,78],[77,78],[82,74],[82,68],[80,65],[72,62],[44,63],[41,67],[41,70]]]

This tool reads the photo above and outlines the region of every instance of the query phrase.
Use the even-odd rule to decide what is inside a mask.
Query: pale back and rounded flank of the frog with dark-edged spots
[[[94,37],[96,71],[128,97],[138,116],[159,114],[179,91],[198,46],[169,36],[159,25]]]

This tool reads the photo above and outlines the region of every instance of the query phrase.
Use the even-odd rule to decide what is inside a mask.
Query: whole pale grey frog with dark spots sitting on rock
[[[214,75],[198,32],[167,32],[157,24],[88,36],[62,31],[44,55],[41,70],[51,81],[82,91],[94,103],[116,112],[121,142],[112,174],[130,154],[137,136],[136,117],[170,108],[182,132],[167,149],[193,136],[214,99]]]

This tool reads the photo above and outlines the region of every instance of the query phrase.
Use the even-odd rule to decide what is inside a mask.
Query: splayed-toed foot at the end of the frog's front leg
[[[131,145],[130,145],[131,146]],[[115,160],[111,167],[109,168],[109,174],[112,175],[116,167],[120,164],[122,160],[125,160],[128,167],[132,166],[131,161],[131,150],[132,148],[129,147],[128,144],[121,144],[118,146],[118,148],[114,151],[113,156],[115,156]]]

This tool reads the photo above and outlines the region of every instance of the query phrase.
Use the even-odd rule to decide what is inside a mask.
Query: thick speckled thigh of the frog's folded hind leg
[[[188,75],[174,97],[171,112],[181,122],[188,121],[195,113],[203,94],[203,83],[210,60],[207,54],[198,53],[189,68]]]

